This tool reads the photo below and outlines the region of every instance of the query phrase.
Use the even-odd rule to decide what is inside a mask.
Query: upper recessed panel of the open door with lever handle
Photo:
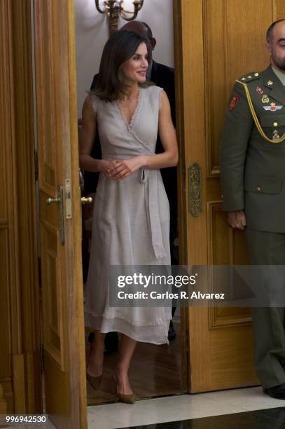
[[[59,178],[57,177],[57,168],[55,168],[55,165],[57,165],[57,158],[59,156],[58,148],[62,143],[62,139],[60,137],[60,127],[57,124],[57,115],[60,114],[60,102],[58,101],[60,91],[57,90],[57,76],[59,75],[58,67],[60,67],[60,62],[50,62],[51,57],[58,58],[60,55],[57,43],[59,31],[56,22],[57,11],[52,13],[53,8],[57,8],[55,1],[43,1],[41,9],[35,8],[34,21],[37,25],[37,32],[42,34],[39,46],[37,46],[38,52],[46,53],[46,55],[41,55],[40,58],[36,55],[36,107],[39,111],[37,116],[37,132],[41,136],[41,144],[39,146],[39,163],[41,165],[39,182],[44,192],[56,198]],[[50,127],[46,126],[47,116]],[[59,142],[58,147],[50,144],[50,142],[54,142],[56,139]]]

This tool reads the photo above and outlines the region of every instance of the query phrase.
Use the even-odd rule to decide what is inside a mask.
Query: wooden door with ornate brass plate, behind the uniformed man
[[[184,264],[246,264],[244,233],[230,229],[222,210],[221,128],[235,79],[267,67],[265,32],[284,17],[282,0],[174,1],[182,154],[179,243],[185,250]],[[193,163],[202,172],[201,185],[194,184],[201,186],[202,212],[197,217],[188,205],[188,168]],[[199,205],[198,200],[194,203]],[[184,317],[191,393],[258,383],[248,308],[190,308]]]

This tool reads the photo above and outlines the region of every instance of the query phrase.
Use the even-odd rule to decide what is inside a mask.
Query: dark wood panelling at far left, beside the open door
[[[30,52],[29,0],[1,1],[0,383],[7,411],[18,414],[42,409]]]

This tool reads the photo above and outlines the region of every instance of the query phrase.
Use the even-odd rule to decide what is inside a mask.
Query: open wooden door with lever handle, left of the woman
[[[46,412],[86,428],[73,2],[33,8]]]

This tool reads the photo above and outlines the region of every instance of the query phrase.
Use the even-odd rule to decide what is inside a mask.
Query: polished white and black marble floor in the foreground
[[[116,403],[88,407],[88,429],[285,428],[285,409],[282,407],[285,407],[285,401],[268,397],[260,387],[222,390],[140,400],[134,405]],[[255,410],[263,411],[246,412]],[[282,425],[273,425],[274,413],[283,416]],[[229,417],[230,414],[235,416]],[[274,417],[275,420],[278,419]],[[236,425],[231,425],[232,421]],[[243,424],[243,421],[247,423]],[[260,421],[263,425],[251,425],[250,421]]]

